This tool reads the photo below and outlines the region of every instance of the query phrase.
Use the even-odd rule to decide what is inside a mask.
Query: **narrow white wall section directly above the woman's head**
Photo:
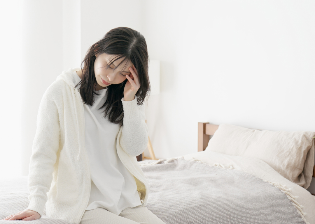
[[[81,0],[81,57],[109,30],[126,26],[143,31],[141,0]]]

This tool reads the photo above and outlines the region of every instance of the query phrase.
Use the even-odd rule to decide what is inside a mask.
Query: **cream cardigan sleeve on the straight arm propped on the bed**
[[[36,211],[42,217],[60,141],[57,106],[47,90],[39,104],[36,125],[27,179],[30,195],[26,210]]]

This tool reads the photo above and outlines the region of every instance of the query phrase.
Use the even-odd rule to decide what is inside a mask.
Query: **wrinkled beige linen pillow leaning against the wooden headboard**
[[[267,131],[221,124],[205,150],[261,159],[293,183],[308,188],[314,168],[311,131]]]

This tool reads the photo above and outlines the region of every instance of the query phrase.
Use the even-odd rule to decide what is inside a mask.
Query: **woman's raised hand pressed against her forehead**
[[[140,88],[140,82],[138,79],[138,71],[135,68],[135,65],[132,65],[133,68],[129,67],[131,72],[130,76],[126,75],[128,82],[125,85],[123,90],[123,98],[125,101],[131,101],[135,99],[135,95]]]

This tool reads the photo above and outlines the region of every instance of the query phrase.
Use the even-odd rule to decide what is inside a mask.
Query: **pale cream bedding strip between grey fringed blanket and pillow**
[[[298,196],[298,198],[295,200],[300,205],[304,206],[303,211],[306,213],[306,215],[304,215],[306,221],[308,221],[310,224],[315,224],[315,197],[305,188],[302,188],[281,176],[266,162],[260,159],[242,156],[229,156],[212,151],[202,151],[184,156],[178,156],[176,158],[184,158],[188,160],[198,159],[209,164],[210,166],[215,166],[215,164],[216,166],[218,164],[227,167],[232,166],[234,169],[247,172],[265,181],[277,182],[285,185],[286,188],[292,188],[291,194]]]

